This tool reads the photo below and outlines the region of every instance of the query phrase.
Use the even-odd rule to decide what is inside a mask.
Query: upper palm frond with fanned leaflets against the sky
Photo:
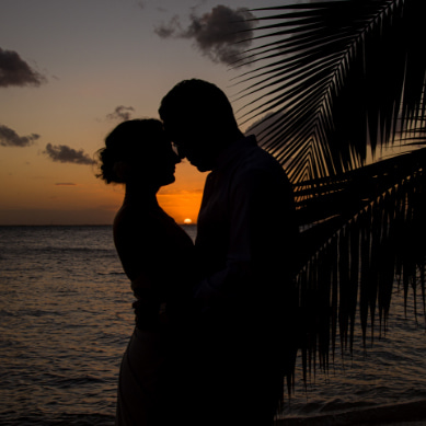
[[[250,51],[241,76],[246,122],[274,112],[261,145],[292,182],[365,164],[425,117],[423,2],[343,0],[264,8],[272,39]],[[269,117],[269,120],[272,118]]]

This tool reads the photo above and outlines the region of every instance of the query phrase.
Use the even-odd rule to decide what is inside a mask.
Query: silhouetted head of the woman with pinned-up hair
[[[99,159],[97,177],[106,183],[158,187],[174,182],[175,164],[181,161],[162,123],[154,118],[120,123],[105,138]]]

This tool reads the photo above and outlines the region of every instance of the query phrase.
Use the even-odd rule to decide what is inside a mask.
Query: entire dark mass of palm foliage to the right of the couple
[[[426,25],[422,0],[339,0],[257,9],[258,46],[235,67],[245,122],[293,184],[304,375],[385,331],[394,283],[423,293],[426,257]],[[258,33],[257,33],[258,34]],[[265,42],[266,41],[266,42]],[[262,126],[262,123],[260,124]],[[377,153],[398,154],[373,162]],[[338,333],[337,333],[338,332]]]

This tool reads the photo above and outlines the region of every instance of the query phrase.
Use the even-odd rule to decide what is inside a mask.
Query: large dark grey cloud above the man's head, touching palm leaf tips
[[[250,47],[255,16],[245,8],[231,9],[217,5],[211,12],[202,16],[189,16],[189,25],[182,28],[180,18],[173,16],[168,24],[154,28],[162,38],[189,38],[204,56],[214,62],[226,65],[241,59],[242,54]]]

